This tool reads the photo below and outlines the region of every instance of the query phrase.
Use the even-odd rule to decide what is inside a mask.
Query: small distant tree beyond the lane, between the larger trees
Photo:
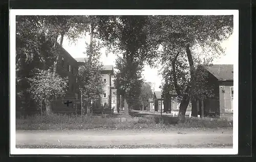
[[[144,82],[141,87],[140,100],[142,102],[142,108],[144,110],[144,106],[148,106],[149,99],[153,98],[153,92],[150,82]]]

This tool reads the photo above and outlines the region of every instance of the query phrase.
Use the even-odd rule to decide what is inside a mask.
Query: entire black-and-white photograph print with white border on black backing
[[[10,153],[238,154],[238,10],[10,10]]]

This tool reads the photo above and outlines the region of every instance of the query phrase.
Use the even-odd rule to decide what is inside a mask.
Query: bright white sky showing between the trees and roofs
[[[87,57],[86,54],[83,52],[86,49],[86,43],[90,42],[90,36],[86,38],[78,39],[76,43],[70,42],[66,37],[63,40],[63,48],[70,53],[73,58],[80,58],[80,57]],[[222,47],[225,49],[225,55],[222,55],[219,58],[216,58],[212,63],[213,64],[233,64],[233,54],[235,53],[235,49],[232,48],[232,44],[234,44],[234,37],[231,35],[226,41],[222,43]],[[114,65],[115,68],[115,60],[117,54],[108,54],[105,55],[105,50],[101,50],[101,62],[104,65]],[[154,91],[161,91],[159,86],[161,85],[161,75],[158,74],[158,68],[151,68],[148,65],[145,65],[143,71],[143,77],[145,78],[146,82],[154,83],[153,90]]]

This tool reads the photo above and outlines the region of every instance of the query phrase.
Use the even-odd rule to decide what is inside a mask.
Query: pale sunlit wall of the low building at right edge
[[[225,113],[232,113],[232,99],[231,99],[231,87],[233,87],[233,82],[220,82],[219,84],[219,94],[220,94],[220,115]]]

